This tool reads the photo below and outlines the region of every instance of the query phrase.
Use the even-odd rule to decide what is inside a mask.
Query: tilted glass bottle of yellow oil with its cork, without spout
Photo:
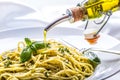
[[[70,22],[85,19],[95,19],[107,12],[115,12],[120,9],[120,0],[88,0],[82,6],[77,6],[67,10],[70,14]]]

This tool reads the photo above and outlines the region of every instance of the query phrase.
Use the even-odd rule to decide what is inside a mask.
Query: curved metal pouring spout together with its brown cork
[[[73,23],[79,20],[83,20],[84,18],[85,18],[85,9],[83,7],[78,7],[78,6],[73,7],[73,8],[67,9],[66,15],[49,24],[47,27],[45,27],[44,30],[48,31],[55,25],[60,24],[66,20]]]

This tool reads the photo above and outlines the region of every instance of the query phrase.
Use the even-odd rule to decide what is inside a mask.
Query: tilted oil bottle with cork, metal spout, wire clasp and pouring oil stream
[[[65,21],[65,20],[70,21],[71,23],[79,21],[79,20],[83,20],[83,21],[87,20],[88,21],[90,19],[100,18],[102,15],[112,14],[113,12],[118,11],[118,10],[120,10],[120,0],[88,0],[83,5],[67,9],[66,15],[64,15],[63,17],[55,20],[50,25],[48,25],[44,29],[44,41],[46,41],[47,31],[49,29],[51,29],[53,26]],[[111,16],[111,15],[109,15],[109,16]],[[103,19],[103,21],[101,22],[101,24],[103,23],[102,28],[105,26],[105,24],[107,23],[109,18],[110,17],[108,17],[108,19],[105,22],[104,22],[105,19]],[[95,24],[99,24],[99,23],[95,23]],[[96,35],[96,33],[93,34],[92,36],[94,36],[94,35],[95,36],[92,37],[91,39],[87,39],[86,37],[85,37],[85,39],[90,43],[96,42],[96,40],[99,38],[98,33],[101,31],[102,28],[100,28],[100,30],[98,30],[98,32],[96,32],[97,35]]]

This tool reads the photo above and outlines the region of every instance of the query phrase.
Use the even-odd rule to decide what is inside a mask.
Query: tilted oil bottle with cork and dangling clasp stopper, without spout
[[[67,14],[70,15],[70,22],[76,22],[79,20],[100,18],[103,14],[111,14],[119,9],[120,0],[88,0],[82,6],[68,9]],[[96,43],[97,39],[100,37],[100,35],[96,34],[103,28],[106,22],[99,28],[90,26],[85,29],[84,36],[90,44]]]

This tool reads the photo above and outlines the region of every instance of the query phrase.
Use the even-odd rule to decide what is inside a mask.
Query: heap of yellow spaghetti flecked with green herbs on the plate
[[[20,62],[26,47],[23,42],[17,49],[2,53],[0,80],[84,80],[93,74],[93,66],[81,52],[55,40],[46,43],[48,47],[38,49],[24,63]]]

